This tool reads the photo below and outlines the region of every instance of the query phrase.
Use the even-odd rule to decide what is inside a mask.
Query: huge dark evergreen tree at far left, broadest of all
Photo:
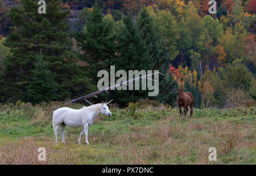
[[[90,80],[81,72],[76,54],[71,51],[72,41],[66,32],[69,24],[65,19],[69,10],[60,10],[60,1],[46,0],[46,14],[39,14],[38,2],[21,0],[20,3],[22,6],[10,10],[15,28],[11,28],[5,42],[12,55],[3,61],[3,99],[27,100],[29,92],[26,90],[31,90],[33,74],[38,72],[33,63],[39,56],[47,62],[48,70],[56,75],[57,91],[55,88],[52,90],[56,95],[44,97],[44,100],[55,100],[56,97],[64,100],[90,91]],[[49,72],[47,74],[51,76]],[[39,75],[36,75],[37,81],[42,79]]]

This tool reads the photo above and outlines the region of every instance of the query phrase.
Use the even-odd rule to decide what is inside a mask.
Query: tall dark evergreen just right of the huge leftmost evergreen
[[[84,51],[81,60],[89,64],[86,67],[88,75],[93,79],[93,84],[97,84],[98,71],[110,68],[108,62],[115,57],[113,23],[104,20],[102,9],[95,5],[88,15],[85,30],[75,33],[75,38],[78,46]]]

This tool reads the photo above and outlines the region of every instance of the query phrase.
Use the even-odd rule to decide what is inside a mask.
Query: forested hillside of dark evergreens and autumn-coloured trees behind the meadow
[[[0,0],[1,1],[1,0]],[[159,70],[159,95],[111,91],[119,106],[151,98],[175,106],[255,105],[256,0],[46,0],[0,3],[0,102],[37,104],[97,91],[97,72]]]

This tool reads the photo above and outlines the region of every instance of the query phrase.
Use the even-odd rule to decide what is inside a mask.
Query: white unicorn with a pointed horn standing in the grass
[[[72,128],[82,127],[78,143],[81,144],[81,136],[84,133],[85,143],[89,145],[88,127],[92,125],[94,118],[99,113],[111,117],[112,113],[109,111],[109,107],[107,106],[111,101],[108,103],[102,102],[101,104],[95,104],[88,107],[84,106],[82,109],[59,108],[53,111],[52,126],[56,138],[55,143],[57,144],[58,142],[59,128],[61,126],[61,141],[66,144],[64,132],[65,126],[67,125],[68,127]]]

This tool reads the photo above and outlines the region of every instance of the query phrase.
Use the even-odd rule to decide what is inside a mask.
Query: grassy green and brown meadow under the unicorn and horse
[[[61,102],[0,105],[0,164],[256,164],[256,108],[195,109],[192,119],[168,106],[112,107],[98,115],[88,140],[81,128],[66,127],[67,145],[55,144],[52,111]],[[69,107],[79,109],[81,104]],[[38,161],[38,148],[46,161]],[[209,161],[209,148],[217,161]]]

